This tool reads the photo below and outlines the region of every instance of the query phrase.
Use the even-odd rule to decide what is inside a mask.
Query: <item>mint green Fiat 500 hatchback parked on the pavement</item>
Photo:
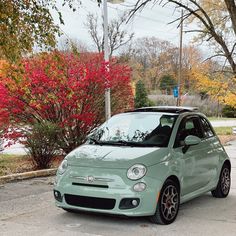
[[[209,191],[226,197],[230,171],[224,147],[196,109],[140,108],[113,116],[65,157],[54,197],[66,211],[170,224],[181,203]]]

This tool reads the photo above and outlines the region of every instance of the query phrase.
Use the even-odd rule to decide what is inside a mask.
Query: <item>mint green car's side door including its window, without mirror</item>
[[[184,150],[184,139],[188,135],[199,137],[201,142]],[[203,140],[204,134],[199,116],[193,115],[184,118],[180,123],[174,144],[182,175],[182,196],[203,188],[209,181],[209,178],[206,178],[209,173],[205,162],[210,148],[206,146]]]

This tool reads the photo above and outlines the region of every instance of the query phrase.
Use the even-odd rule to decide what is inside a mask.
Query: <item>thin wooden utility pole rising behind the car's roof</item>
[[[182,55],[183,55],[183,10],[181,11],[181,20],[180,20],[179,73],[178,73],[178,98],[177,98],[177,106],[181,106]]]

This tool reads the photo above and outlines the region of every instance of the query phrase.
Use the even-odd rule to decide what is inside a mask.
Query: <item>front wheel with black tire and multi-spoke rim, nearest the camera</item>
[[[155,224],[171,224],[178,215],[179,204],[179,187],[174,181],[168,179],[161,189],[156,212],[153,216],[150,216],[150,221]]]

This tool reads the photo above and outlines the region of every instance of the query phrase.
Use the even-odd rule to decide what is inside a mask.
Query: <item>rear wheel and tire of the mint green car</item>
[[[230,184],[230,167],[229,165],[224,164],[220,172],[217,187],[215,190],[211,191],[212,196],[216,198],[227,197],[230,191]]]

